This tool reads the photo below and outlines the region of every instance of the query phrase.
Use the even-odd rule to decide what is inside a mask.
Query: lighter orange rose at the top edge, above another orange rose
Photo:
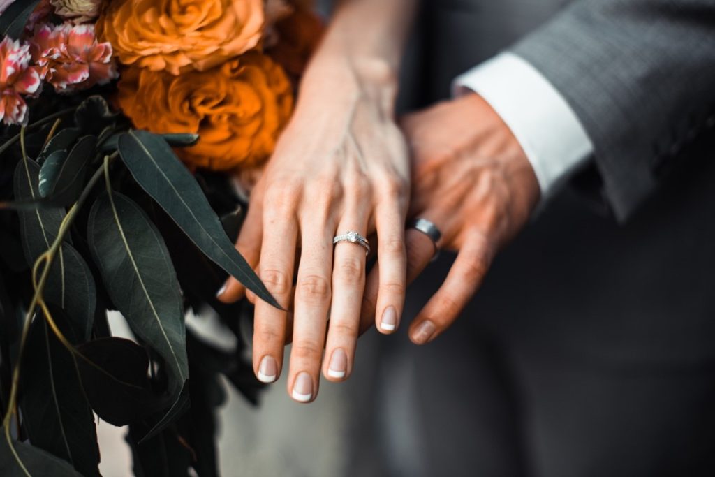
[[[263,0],[113,0],[97,21],[124,64],[204,71],[255,47]]]

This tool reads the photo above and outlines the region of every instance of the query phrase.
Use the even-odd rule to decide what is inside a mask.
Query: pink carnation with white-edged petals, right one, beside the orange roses
[[[64,23],[36,27],[30,39],[32,59],[58,92],[104,84],[118,76],[112,45],[98,43],[94,25]]]

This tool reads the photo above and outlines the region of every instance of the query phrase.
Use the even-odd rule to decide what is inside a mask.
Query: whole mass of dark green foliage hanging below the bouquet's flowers
[[[215,292],[230,272],[275,304],[232,245],[245,205],[177,159],[195,134],[134,131],[99,96],[51,101],[23,137],[0,128],[0,475],[99,475],[94,412],[129,426],[137,476],[215,476],[220,375],[252,402],[262,387],[247,308]],[[187,333],[186,308],[217,313],[237,349]],[[108,310],[136,340],[111,335]]]

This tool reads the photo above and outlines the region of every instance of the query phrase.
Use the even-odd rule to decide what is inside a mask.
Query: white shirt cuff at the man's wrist
[[[586,162],[593,144],[573,109],[536,68],[504,52],[460,75],[455,95],[473,91],[501,116],[536,173],[541,197]]]

